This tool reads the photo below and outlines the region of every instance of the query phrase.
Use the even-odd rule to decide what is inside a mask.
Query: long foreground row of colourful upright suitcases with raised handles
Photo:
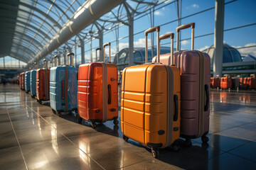
[[[179,33],[186,28],[192,30],[191,50],[179,50]],[[127,67],[122,72],[123,139],[127,141],[131,138],[151,147],[154,157],[158,157],[159,148],[171,146],[174,151],[178,151],[179,137],[186,138],[187,146],[191,145],[191,139],[197,137],[208,142],[206,135],[209,131],[210,115],[210,57],[206,53],[193,50],[194,28],[195,23],[176,28],[177,52],[174,52],[174,33],[160,37],[159,26],[149,28],[145,31],[146,63]],[[147,37],[154,31],[157,32],[157,55],[148,63]],[[166,38],[171,38],[171,53],[160,55],[160,41]],[[117,66],[105,62],[106,46],[110,46],[110,43],[103,45],[103,62],[80,65],[78,84],[74,67],[53,67],[50,72],[47,69],[38,69],[38,100],[41,100],[41,88],[42,91],[44,89],[44,97],[50,96],[53,113],[60,115],[62,111],[75,110],[78,122],[82,119],[88,120],[93,128],[96,128],[96,122],[107,120],[114,120],[117,125]],[[49,94],[46,94],[48,91]],[[75,94],[78,94],[77,98]],[[74,105],[71,105],[72,102]]]

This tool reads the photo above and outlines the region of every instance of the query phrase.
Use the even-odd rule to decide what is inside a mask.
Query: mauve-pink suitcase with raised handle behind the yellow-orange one
[[[179,50],[180,30],[192,28],[191,49]],[[177,52],[174,52],[174,65],[181,71],[181,137],[185,145],[191,146],[191,139],[201,137],[208,142],[210,115],[210,57],[204,52],[193,50],[195,23],[176,28]],[[161,55],[160,62],[172,64],[170,53]],[[156,62],[156,57],[152,62]]]

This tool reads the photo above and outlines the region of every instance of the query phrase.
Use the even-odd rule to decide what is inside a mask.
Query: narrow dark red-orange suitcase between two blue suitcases
[[[46,60],[44,59],[45,65]],[[50,99],[50,70],[47,68],[36,70],[36,98],[38,103]]]

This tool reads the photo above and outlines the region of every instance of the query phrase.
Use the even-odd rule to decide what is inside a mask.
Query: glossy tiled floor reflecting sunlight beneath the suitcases
[[[208,147],[193,140],[154,159],[124,142],[112,121],[94,130],[73,115],[59,118],[17,85],[0,85],[0,169],[255,169],[256,91],[212,91],[208,137]]]

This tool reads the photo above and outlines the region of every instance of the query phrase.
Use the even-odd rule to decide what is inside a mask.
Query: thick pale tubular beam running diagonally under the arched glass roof
[[[90,26],[90,24],[97,21],[98,18],[108,13],[115,6],[122,3],[123,0],[88,0],[85,1],[78,11],[76,11],[70,20],[65,23],[61,30],[55,34],[55,36],[50,40],[41,50],[41,52],[36,55],[36,57],[30,61],[30,63],[41,60],[46,57],[50,52],[56,48],[63,45],[66,41],[72,38],[74,35],[80,33],[81,30]]]

